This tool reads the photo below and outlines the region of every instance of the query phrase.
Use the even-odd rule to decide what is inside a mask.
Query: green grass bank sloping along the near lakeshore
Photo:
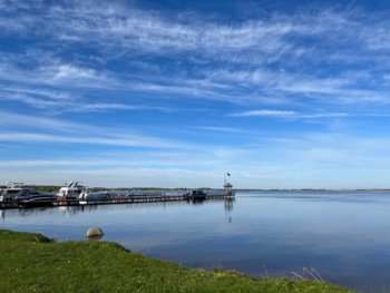
[[[0,229],[0,292],[352,292],[323,282],[256,281],[188,268],[110,242],[51,243],[40,234]]]

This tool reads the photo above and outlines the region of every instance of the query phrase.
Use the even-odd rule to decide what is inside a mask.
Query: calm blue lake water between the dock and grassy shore
[[[255,277],[303,275],[363,291],[390,290],[390,193],[237,192],[206,201],[1,211],[0,227],[104,240],[193,267]]]

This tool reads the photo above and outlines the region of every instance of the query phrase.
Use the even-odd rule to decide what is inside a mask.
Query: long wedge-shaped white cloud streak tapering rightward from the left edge
[[[1,113],[0,141],[22,144],[87,144],[117,147],[185,148],[186,144],[119,127],[99,127],[55,118]],[[25,131],[20,130],[25,129]],[[13,130],[12,130],[13,129]],[[17,130],[14,130],[17,129]],[[29,129],[29,131],[26,131]]]

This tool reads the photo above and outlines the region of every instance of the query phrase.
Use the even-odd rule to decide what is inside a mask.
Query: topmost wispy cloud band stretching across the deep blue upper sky
[[[38,16],[42,14],[45,18],[29,14],[27,11],[32,8]],[[304,53],[310,50],[300,42],[289,41],[289,37],[322,37],[328,41],[328,46],[333,46],[335,32],[344,37],[340,41],[371,43],[368,46],[370,49],[374,47],[373,39],[382,40],[383,43],[386,38],[381,31],[386,30],[368,35],[362,33],[361,29],[367,32],[371,28],[377,29],[378,23],[382,28],[390,26],[384,16],[377,19],[371,16],[369,19],[365,18],[365,23],[370,26],[363,27],[362,18],[367,17],[364,12],[359,10],[338,12],[332,9],[318,10],[318,13],[312,13],[312,10],[308,9],[293,17],[274,13],[266,19],[228,25],[195,13],[188,13],[186,18],[181,14],[168,18],[155,11],[143,11],[115,2],[91,4],[88,1],[82,3],[66,1],[65,4],[51,7],[38,3],[27,9],[19,9],[17,18],[14,14],[12,18],[9,17],[7,13],[10,11],[14,13],[17,10],[4,10],[3,29],[20,31],[23,28],[28,31],[37,28],[37,35],[47,36],[51,40],[59,38],[60,41],[91,42],[91,46],[105,50],[119,46],[124,53],[128,52],[130,47],[137,48],[140,53],[173,55],[178,51],[197,51],[221,59],[232,58],[233,61],[244,61],[242,52],[245,51],[247,62],[253,59],[277,60],[285,55],[305,57]],[[192,21],[188,21],[188,18]],[[49,25],[41,26],[43,22]],[[264,58],[259,55],[260,52],[269,55]]]

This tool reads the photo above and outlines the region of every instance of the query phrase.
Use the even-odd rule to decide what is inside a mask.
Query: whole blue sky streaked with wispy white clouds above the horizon
[[[0,182],[390,187],[389,31],[387,1],[0,0]]]

